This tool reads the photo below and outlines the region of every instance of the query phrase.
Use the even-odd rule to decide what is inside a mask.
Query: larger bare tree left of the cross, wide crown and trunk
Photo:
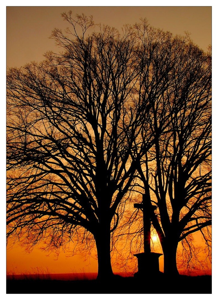
[[[102,278],[135,170],[136,36],[130,26],[87,35],[92,17],[62,16],[73,31],[52,38],[64,52],[8,71],[8,236],[48,248],[94,237]]]

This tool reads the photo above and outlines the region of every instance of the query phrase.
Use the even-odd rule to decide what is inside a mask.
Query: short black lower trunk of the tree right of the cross
[[[176,251],[178,242],[173,241],[172,238],[164,241],[163,254],[164,254],[164,274],[169,276],[178,275],[176,264]]]

